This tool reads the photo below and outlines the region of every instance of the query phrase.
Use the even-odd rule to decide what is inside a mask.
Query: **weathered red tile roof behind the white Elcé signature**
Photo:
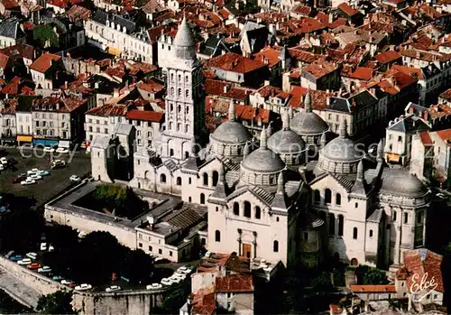
[[[407,278],[408,288],[414,283],[419,283],[421,278],[428,273],[426,280],[430,282],[434,278],[434,282],[437,283],[435,291],[444,292],[441,272],[442,255],[431,252],[426,248],[407,250],[403,255],[403,265],[409,272],[409,278]]]

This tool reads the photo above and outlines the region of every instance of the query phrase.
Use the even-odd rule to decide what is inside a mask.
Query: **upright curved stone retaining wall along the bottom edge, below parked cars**
[[[80,315],[116,315],[133,314],[149,315],[154,313],[157,306],[161,306],[163,292],[135,291],[135,292],[74,292],[72,307]]]

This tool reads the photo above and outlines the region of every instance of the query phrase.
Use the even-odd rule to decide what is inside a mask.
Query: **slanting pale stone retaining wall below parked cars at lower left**
[[[27,268],[2,256],[0,256],[0,266],[2,266],[8,273],[13,274],[15,277],[20,279],[24,284],[32,287],[34,290],[43,295],[60,290],[70,291],[67,286],[57,283],[56,281],[53,281],[40,273],[32,272],[31,270],[28,270]]]

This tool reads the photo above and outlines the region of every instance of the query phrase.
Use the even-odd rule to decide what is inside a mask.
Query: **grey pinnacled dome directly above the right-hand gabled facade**
[[[320,155],[332,162],[354,162],[364,157],[364,152],[357,150],[354,142],[346,136],[345,121],[340,125],[340,135],[326,144]]]

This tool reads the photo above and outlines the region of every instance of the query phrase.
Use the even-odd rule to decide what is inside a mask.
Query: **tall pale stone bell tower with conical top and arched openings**
[[[191,152],[191,139],[203,138],[206,131],[202,64],[196,58],[196,42],[185,18],[179,25],[172,52],[161,157],[185,160]]]

